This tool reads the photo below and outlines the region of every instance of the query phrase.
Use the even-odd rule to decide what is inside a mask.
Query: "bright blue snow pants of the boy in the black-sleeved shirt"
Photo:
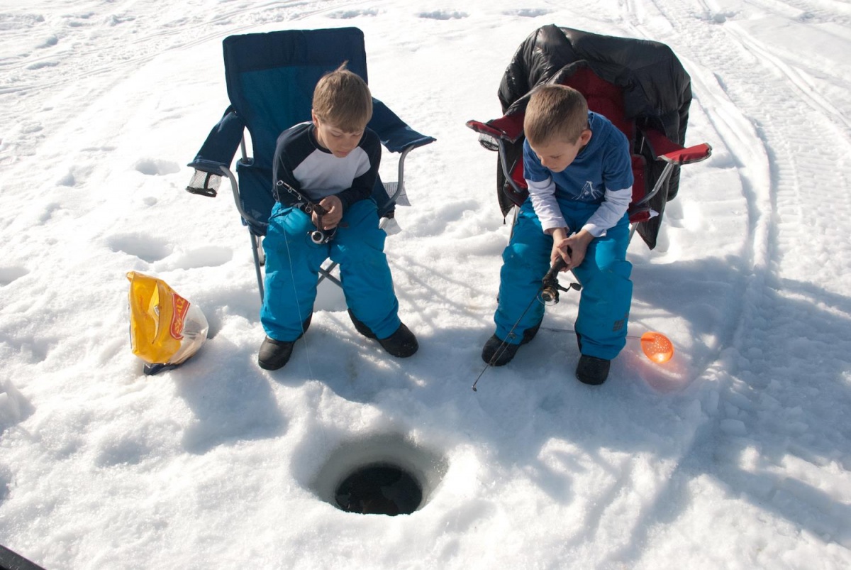
[[[378,338],[390,337],[400,325],[399,302],[384,255],[387,234],[378,227],[372,200],[349,206],[334,239],[314,244],[308,233],[316,229],[301,210],[275,204],[263,249],[266,251],[266,294],[260,322],[266,335],[294,341],[302,323],[313,312],[319,268],[328,257],[340,264],[346,305]]]

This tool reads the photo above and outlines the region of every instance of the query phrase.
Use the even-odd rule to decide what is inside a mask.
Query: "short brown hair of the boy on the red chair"
[[[542,85],[532,92],[523,118],[523,132],[532,144],[574,143],[588,128],[588,103],[567,85]]]

